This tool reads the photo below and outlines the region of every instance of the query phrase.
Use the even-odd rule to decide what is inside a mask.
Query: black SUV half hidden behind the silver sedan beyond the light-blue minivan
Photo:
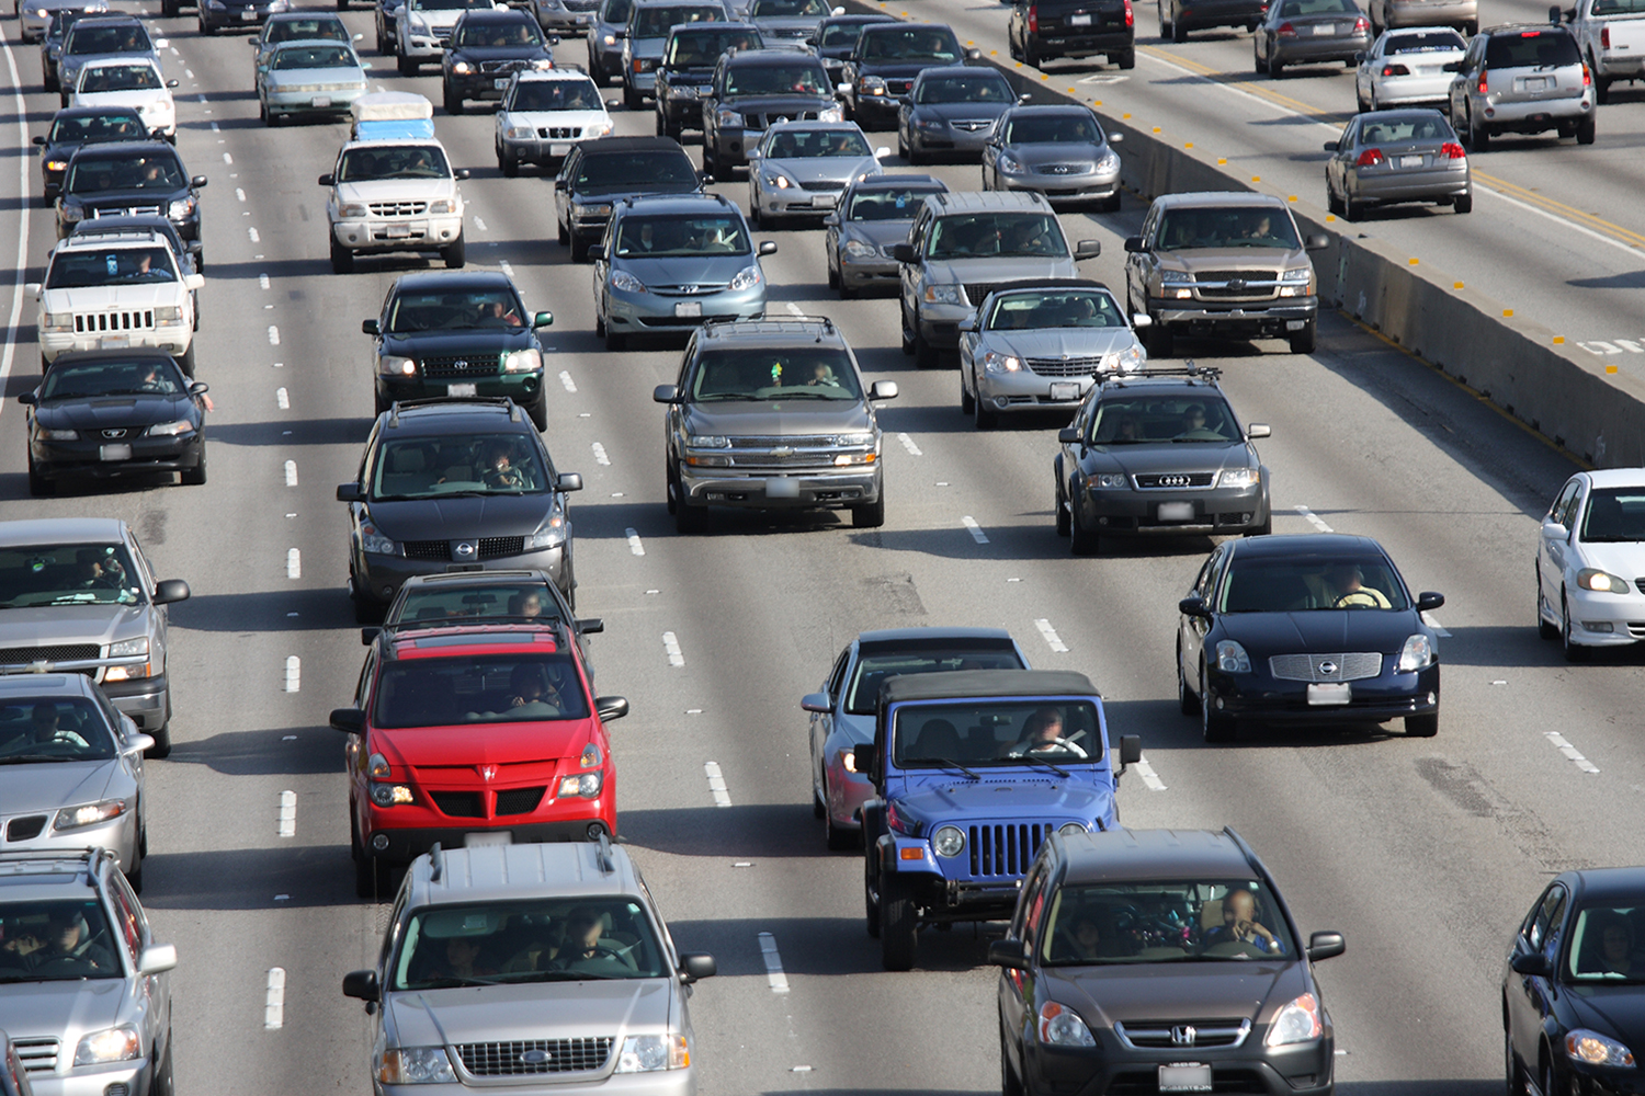
[[[765,127],[776,122],[839,122],[827,69],[813,53],[734,49],[714,69],[702,99],[702,168],[719,182],[748,163]]]

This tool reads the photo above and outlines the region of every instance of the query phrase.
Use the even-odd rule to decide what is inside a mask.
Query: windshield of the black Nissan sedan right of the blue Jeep
[[[1380,557],[1235,559],[1221,606],[1224,613],[1408,608],[1405,583]]]

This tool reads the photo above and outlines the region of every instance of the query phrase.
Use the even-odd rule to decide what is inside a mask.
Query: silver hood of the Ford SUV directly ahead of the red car
[[[668,1030],[671,997],[663,978],[426,989],[388,994],[388,1019],[400,1047],[620,1038],[632,1030]]]

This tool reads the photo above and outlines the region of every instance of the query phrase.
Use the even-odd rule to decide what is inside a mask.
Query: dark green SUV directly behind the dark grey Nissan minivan
[[[401,399],[508,398],[548,426],[543,345],[536,329],[551,312],[525,311],[507,274],[419,271],[383,297],[383,312],[360,324],[377,338],[377,412]]]

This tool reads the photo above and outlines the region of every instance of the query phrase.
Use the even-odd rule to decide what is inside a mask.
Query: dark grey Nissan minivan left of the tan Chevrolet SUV
[[[400,403],[377,416],[352,483],[349,596],[362,624],[413,575],[543,570],[576,606],[566,495],[543,435],[510,399]]]

